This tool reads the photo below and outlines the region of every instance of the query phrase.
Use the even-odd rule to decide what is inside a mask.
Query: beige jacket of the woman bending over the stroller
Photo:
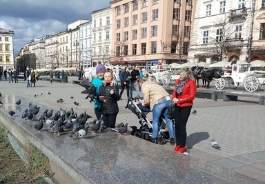
[[[153,110],[153,107],[157,100],[161,99],[164,96],[169,96],[168,92],[159,84],[146,81],[141,85],[141,92],[144,95],[144,101],[142,105],[150,105],[150,109]]]

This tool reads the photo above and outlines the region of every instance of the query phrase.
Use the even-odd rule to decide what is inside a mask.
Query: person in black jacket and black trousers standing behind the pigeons
[[[102,114],[105,127],[115,128],[119,112],[119,87],[112,81],[112,72],[105,72],[103,84],[99,87],[99,100],[102,102]]]

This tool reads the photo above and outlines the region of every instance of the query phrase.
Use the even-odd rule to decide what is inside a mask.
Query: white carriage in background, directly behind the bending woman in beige
[[[148,72],[148,81],[156,81],[164,86],[179,79],[178,72],[171,70],[171,65],[153,65]]]

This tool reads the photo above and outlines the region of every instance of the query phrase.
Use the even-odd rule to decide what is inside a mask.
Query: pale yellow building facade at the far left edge
[[[0,70],[14,69],[14,31],[0,28]]]

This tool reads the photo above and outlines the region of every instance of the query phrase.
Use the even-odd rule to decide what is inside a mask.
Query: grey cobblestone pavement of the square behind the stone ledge
[[[73,84],[73,80],[77,80],[76,77],[68,77],[68,83],[37,81],[35,88],[26,88],[26,82],[21,80],[19,83],[0,81],[0,92],[2,95],[23,96],[29,101],[41,103],[55,110],[71,107],[78,113],[86,110],[95,117],[93,104],[85,100],[86,94],[81,93],[85,88]],[[215,88],[212,86],[210,90]],[[39,93],[43,95],[35,97],[35,94]],[[122,96],[124,100],[119,101],[117,123],[139,126],[137,116],[124,108],[125,95],[126,92]],[[70,99],[70,96],[74,96],[74,99]],[[64,102],[57,103],[57,99],[63,99]],[[14,99],[1,101],[5,103],[12,100]],[[78,102],[79,106],[74,105],[74,101]],[[197,114],[190,114],[187,125],[190,156],[257,178],[265,183],[265,105],[258,105],[257,99],[249,98],[227,102],[196,98],[193,110],[197,110]],[[215,139],[222,150],[213,149],[211,139]]]

